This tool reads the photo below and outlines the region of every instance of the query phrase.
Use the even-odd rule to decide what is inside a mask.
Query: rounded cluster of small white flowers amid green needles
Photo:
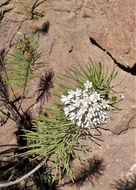
[[[77,126],[99,127],[107,123],[108,101],[94,90],[92,82],[86,81],[84,87],[84,90],[77,88],[69,91],[67,96],[61,96],[65,115]]]

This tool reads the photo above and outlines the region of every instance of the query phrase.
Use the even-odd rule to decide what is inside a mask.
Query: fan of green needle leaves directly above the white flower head
[[[63,80],[65,79],[68,85],[59,85],[63,89],[63,92],[66,93],[69,84],[83,89],[84,83],[87,80],[91,81],[94,89],[105,97],[105,99],[109,99],[110,104],[114,106],[118,102],[118,92],[114,90],[115,86],[113,86],[112,82],[117,74],[115,68],[109,72],[108,68],[100,62],[95,63],[90,60],[89,64],[85,66],[79,65],[79,68],[71,66],[63,76]]]

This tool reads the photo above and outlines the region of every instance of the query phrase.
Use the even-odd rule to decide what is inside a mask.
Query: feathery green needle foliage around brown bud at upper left
[[[38,39],[33,35],[20,33],[14,51],[9,55],[7,64],[11,84],[24,87],[37,65],[41,53],[38,50]]]

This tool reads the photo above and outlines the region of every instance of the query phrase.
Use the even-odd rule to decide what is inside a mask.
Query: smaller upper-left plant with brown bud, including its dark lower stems
[[[0,52],[0,112],[12,119],[19,126],[19,130],[31,126],[31,119],[24,111],[22,103],[26,98],[26,88],[33,77],[33,71],[39,66],[40,55],[36,37],[23,33],[18,35],[14,50],[6,62],[4,50]],[[18,95],[14,88],[16,86],[21,88]]]

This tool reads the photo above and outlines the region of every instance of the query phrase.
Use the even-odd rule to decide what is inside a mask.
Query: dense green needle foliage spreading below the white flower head
[[[83,145],[83,141],[95,142],[95,137],[90,134],[88,129],[83,130],[67,120],[63,111],[51,111],[52,117],[40,115],[34,121],[32,131],[26,131],[25,138],[35,143],[25,147],[26,151],[21,155],[36,155],[35,158],[38,159],[49,156],[54,179],[58,177],[60,180],[64,172],[73,179],[70,161],[72,159],[81,161],[77,150],[87,153],[88,150]]]

